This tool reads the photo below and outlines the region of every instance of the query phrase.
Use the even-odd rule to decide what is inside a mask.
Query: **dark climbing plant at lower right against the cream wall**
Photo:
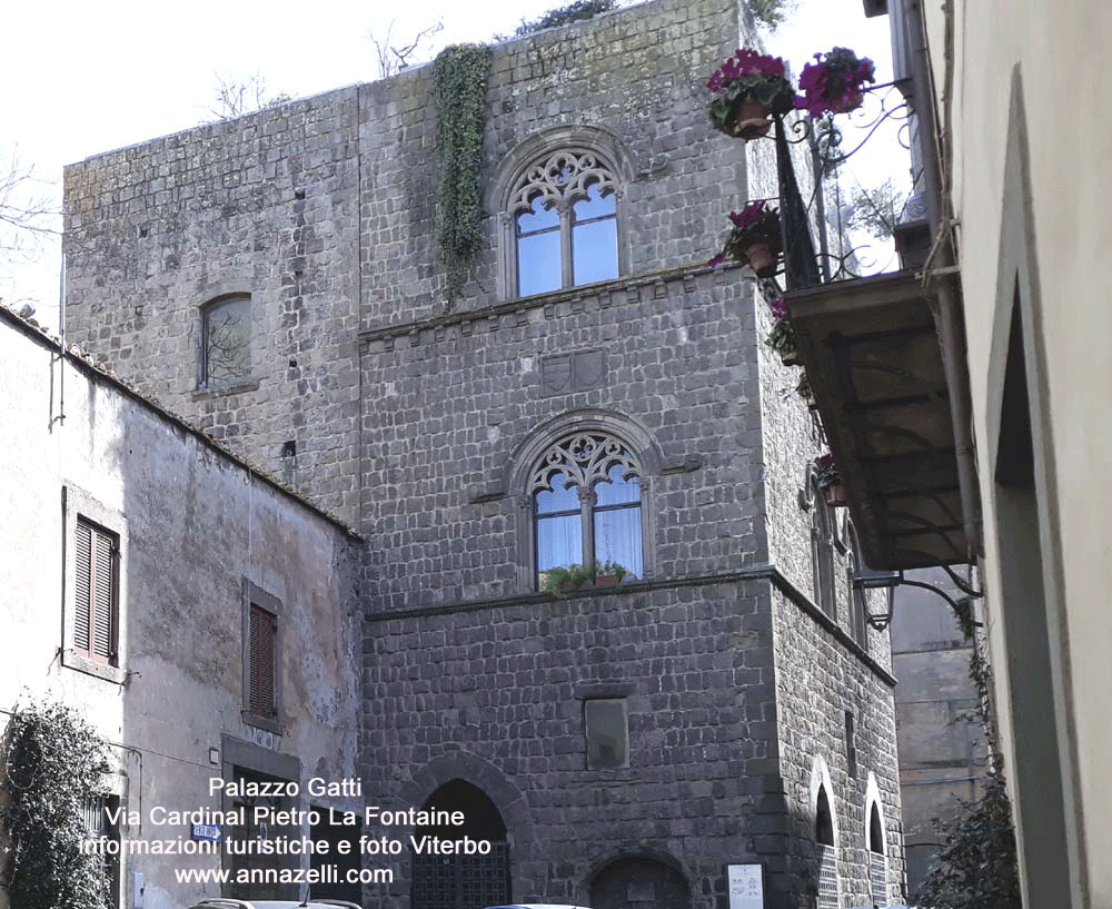
[[[980,704],[975,719],[984,724],[991,749],[989,774],[981,798],[966,803],[962,814],[943,831],[939,857],[913,898],[921,906],[937,909],[1021,909],[1012,804],[989,708],[992,670],[976,639],[979,623],[973,617],[972,601],[965,599],[957,605],[957,622],[966,640],[973,642],[970,679]]]

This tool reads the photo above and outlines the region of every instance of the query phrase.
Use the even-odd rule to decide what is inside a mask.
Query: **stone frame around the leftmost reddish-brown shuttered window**
[[[78,521],[85,520],[116,537],[116,662],[106,663],[82,654],[73,646],[77,609],[77,559],[75,552]],[[62,593],[62,641],[61,663],[63,666],[95,675],[106,682],[122,685],[128,679],[128,565],[130,535],[128,522],[122,512],[110,508],[96,496],[80,487],[67,483],[62,486],[62,571],[64,584]]]

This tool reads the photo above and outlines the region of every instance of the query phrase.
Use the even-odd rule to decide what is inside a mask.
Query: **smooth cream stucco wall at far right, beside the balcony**
[[[936,83],[945,85],[943,6],[929,3],[927,22]],[[1011,299],[1014,269],[1036,268],[1027,305],[1035,313],[1035,334],[1027,324],[1029,356],[1037,364],[1031,394],[1042,413],[1035,425],[1042,508],[1040,520],[1056,555],[1048,571],[1065,579],[1051,600],[1060,603],[1063,642],[1054,643],[1055,662],[1065,668],[1059,696],[1063,722],[1075,741],[1075,755],[1064,753],[1069,788],[1085,806],[1080,820],[1086,841],[1084,859],[1092,906],[1112,902],[1112,833],[1103,818],[1109,796],[1105,781],[1112,751],[1112,691],[1108,665],[1112,632],[1102,604],[1112,585],[1108,541],[1112,516],[1096,503],[1112,494],[1106,470],[1110,442],[1104,421],[1093,418],[1091,389],[1106,388],[1112,373],[1106,338],[1112,313],[1105,305],[1106,275],[1112,268],[1105,213],[1112,205],[1112,146],[1103,117],[1112,103],[1112,83],[1102,77],[1112,31],[1112,8],[1100,0],[1072,4],[1059,14],[1039,3],[957,3],[954,12],[954,91],[949,103],[953,121],[952,198],[961,220],[962,289],[969,343],[976,447],[991,451],[992,426],[999,419],[999,394],[991,366],[994,345],[1007,323],[997,324],[1001,300]],[[1076,73],[1071,90],[1061,88],[1061,66]],[[1013,83],[1022,99],[1012,109]],[[1022,116],[1026,149],[1009,151],[1010,121]],[[1011,154],[1030,179],[1030,189],[1005,187]],[[1026,192],[1030,191],[1030,198]],[[1025,225],[1017,241],[1002,248],[1010,224]],[[1001,271],[1001,267],[1005,270]],[[1039,425],[1041,423],[1041,425]],[[1002,549],[989,517],[996,508],[993,465],[981,465],[985,521],[985,586],[999,596]],[[1059,565],[1055,567],[1054,562]],[[1007,603],[989,606],[992,653],[1004,663],[1003,628]],[[1024,710],[1011,703],[1003,672],[997,672],[997,701],[1005,754],[1013,760],[1011,717]],[[1064,699],[1064,700],[1063,700]],[[1071,714],[1066,720],[1066,714]],[[1013,763],[1014,767],[1014,763]],[[1021,830],[1022,836],[1022,830]]]

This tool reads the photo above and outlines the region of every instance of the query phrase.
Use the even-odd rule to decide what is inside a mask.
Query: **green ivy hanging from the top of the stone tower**
[[[448,306],[483,248],[483,130],[492,50],[453,45],[433,66],[440,152],[440,249],[448,268]]]

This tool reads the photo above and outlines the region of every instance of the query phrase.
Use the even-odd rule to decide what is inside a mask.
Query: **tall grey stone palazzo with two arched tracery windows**
[[[430,67],[67,170],[71,338],[359,528],[365,797],[493,842],[390,858],[368,906],[902,891],[853,526],[752,278],[704,265],[775,186],[706,125],[752,40],[655,0],[495,47],[450,300]],[[539,592],[593,561],[633,576]]]

